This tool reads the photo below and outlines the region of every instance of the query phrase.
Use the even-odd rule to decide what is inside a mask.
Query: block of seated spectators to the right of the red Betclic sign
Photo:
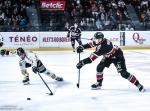
[[[73,0],[70,2],[67,7],[69,23],[66,24],[78,21],[82,30],[135,30],[127,5],[134,7],[145,28],[150,22],[150,0],[80,0],[80,2]]]

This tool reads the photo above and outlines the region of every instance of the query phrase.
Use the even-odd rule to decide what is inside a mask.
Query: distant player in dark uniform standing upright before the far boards
[[[71,38],[71,45],[73,48],[73,52],[75,52],[75,41],[77,41],[79,45],[82,45],[81,29],[78,27],[76,23],[69,28],[67,37]]]

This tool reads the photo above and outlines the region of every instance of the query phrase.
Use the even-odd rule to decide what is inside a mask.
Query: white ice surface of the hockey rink
[[[81,54],[88,57],[91,50]],[[113,65],[104,70],[103,86],[91,90],[96,82],[96,65],[81,69],[80,88],[77,88],[78,54],[72,51],[36,52],[44,65],[64,78],[57,82],[41,74],[54,95],[37,74],[29,68],[30,85],[23,85],[19,58],[15,55],[0,56],[0,111],[149,111],[150,110],[150,50],[124,50],[127,69],[145,86],[146,92],[123,79]],[[31,100],[27,100],[31,98]]]

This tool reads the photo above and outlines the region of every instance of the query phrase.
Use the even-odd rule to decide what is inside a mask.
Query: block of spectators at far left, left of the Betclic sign
[[[0,31],[27,31],[31,0],[0,0]]]

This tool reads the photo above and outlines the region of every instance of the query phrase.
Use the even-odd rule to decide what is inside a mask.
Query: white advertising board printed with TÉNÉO
[[[39,33],[36,32],[0,32],[5,48],[38,48]]]

